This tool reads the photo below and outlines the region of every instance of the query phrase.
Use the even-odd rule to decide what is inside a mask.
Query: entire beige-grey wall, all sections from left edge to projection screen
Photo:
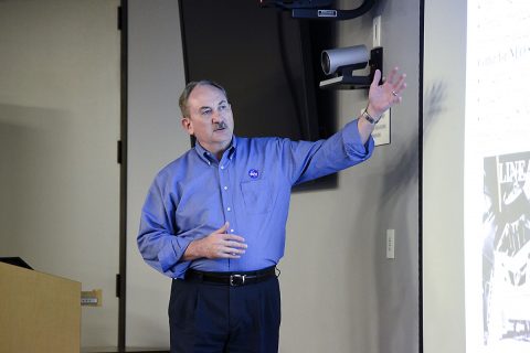
[[[0,256],[104,289],[104,308],[83,310],[85,346],[117,339],[117,2],[0,1]],[[129,43],[127,338],[163,345],[169,282],[141,263],[134,238],[152,175],[189,146],[174,119],[183,86],[178,7],[130,6],[131,35],[141,40]],[[463,221],[455,205],[463,188],[465,2],[427,0],[425,10],[425,352],[463,352]],[[380,1],[341,23],[340,44],[370,44],[377,13],[385,67],[402,66],[410,88],[392,115],[391,146],[340,173],[338,190],[293,197],[282,261],[283,352],[417,352],[418,1]],[[362,92],[341,93],[341,122],[363,101]],[[384,258],[386,228],[396,229],[395,260]],[[451,323],[442,320],[448,314]]]

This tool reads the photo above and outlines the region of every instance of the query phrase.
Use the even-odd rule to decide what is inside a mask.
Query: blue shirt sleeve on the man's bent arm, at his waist
[[[147,194],[137,237],[138,249],[144,260],[159,272],[182,278],[190,261],[183,261],[181,257],[195,234],[176,235],[177,225],[170,216],[174,214],[174,206],[161,184],[157,178]]]

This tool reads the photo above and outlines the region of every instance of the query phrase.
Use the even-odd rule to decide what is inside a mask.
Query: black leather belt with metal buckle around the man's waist
[[[195,269],[186,271],[186,280],[221,284],[232,287],[245,286],[264,281],[276,276],[276,266],[247,272],[205,272]]]

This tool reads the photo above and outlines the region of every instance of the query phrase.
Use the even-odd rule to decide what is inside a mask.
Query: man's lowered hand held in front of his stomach
[[[240,258],[245,254],[245,239],[235,234],[226,234],[229,223],[214,231],[209,236],[193,240],[182,256],[183,260],[205,258]]]

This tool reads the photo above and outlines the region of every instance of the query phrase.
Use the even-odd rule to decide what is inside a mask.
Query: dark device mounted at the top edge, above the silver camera
[[[329,9],[335,1],[330,0],[259,0],[262,8],[279,8],[292,10],[294,19],[316,20],[351,20],[368,12],[377,0],[364,0],[357,9],[336,10]]]

